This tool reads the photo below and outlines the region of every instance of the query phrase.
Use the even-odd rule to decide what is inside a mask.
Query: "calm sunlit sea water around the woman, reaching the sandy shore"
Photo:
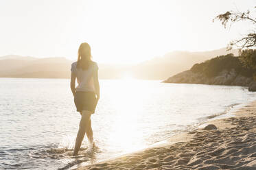
[[[256,99],[240,86],[100,80],[97,147],[72,149],[80,114],[69,80],[0,78],[0,169],[75,169],[148,147]]]

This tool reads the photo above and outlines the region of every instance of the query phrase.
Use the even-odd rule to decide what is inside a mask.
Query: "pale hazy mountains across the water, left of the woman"
[[[2,58],[2,57],[0,57]],[[70,77],[71,60],[66,58],[24,58],[0,60],[0,77]]]

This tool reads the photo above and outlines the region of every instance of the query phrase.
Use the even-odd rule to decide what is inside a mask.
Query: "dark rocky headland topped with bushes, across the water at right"
[[[194,64],[190,70],[178,73],[163,82],[249,86],[249,90],[253,90],[255,86],[253,70],[242,66],[232,53]]]

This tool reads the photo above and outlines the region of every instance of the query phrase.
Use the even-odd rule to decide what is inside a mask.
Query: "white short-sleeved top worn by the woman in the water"
[[[75,87],[76,91],[93,91],[95,92],[95,86],[93,81],[93,73],[99,69],[97,62],[90,64],[87,70],[82,70],[82,68],[76,68],[77,62],[71,64],[71,72],[75,73],[77,77],[78,86]]]

